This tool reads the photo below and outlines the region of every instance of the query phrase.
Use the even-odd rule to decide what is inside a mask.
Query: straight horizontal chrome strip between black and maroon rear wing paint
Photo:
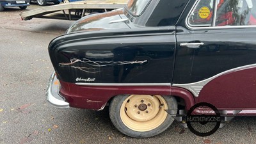
[[[76,83],[79,86],[172,86],[171,83]]]

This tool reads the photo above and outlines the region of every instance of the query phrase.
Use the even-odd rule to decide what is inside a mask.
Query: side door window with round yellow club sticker
[[[216,3],[199,0],[189,15],[188,24],[194,27],[256,25],[256,0],[218,0]]]

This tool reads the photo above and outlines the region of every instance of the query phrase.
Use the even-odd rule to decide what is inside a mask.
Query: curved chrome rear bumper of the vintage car
[[[60,82],[57,79],[55,72],[52,74],[48,86],[46,97],[48,102],[56,108],[69,108],[68,102],[59,93]]]

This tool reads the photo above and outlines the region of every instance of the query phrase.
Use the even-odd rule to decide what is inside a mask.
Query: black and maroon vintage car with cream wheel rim
[[[57,108],[109,108],[135,138],[166,130],[173,116],[207,102],[256,114],[255,0],[130,0],[88,15],[49,44]]]

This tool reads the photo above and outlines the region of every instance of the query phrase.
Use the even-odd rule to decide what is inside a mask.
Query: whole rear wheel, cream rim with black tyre
[[[148,138],[160,134],[172,124],[174,118],[164,109],[177,109],[174,97],[118,95],[111,101],[109,116],[118,131],[134,138]]]

